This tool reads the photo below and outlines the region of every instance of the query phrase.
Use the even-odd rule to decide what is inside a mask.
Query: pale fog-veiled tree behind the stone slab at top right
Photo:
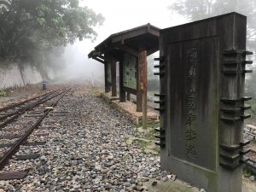
[[[256,52],[256,1],[255,0],[179,0],[168,9],[189,20],[201,20],[207,17],[238,12],[247,15],[247,47]],[[255,56],[254,56],[255,60]],[[256,99],[256,67],[246,81],[246,92]]]

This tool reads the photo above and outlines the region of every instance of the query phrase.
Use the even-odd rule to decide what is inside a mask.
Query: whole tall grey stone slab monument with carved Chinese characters
[[[161,168],[207,192],[241,192],[246,22],[231,13],[160,30]]]

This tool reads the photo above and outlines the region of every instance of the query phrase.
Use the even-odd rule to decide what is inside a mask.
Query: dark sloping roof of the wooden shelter
[[[96,45],[95,49],[88,55],[95,59],[104,55],[111,55],[119,60],[123,53],[137,55],[140,50],[146,49],[148,55],[151,55],[159,49],[160,28],[152,26],[149,23],[143,26],[117,32],[110,35],[101,44]]]

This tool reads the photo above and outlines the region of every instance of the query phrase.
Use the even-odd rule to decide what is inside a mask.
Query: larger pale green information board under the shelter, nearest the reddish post
[[[137,90],[137,58],[130,54],[124,54],[123,86]]]

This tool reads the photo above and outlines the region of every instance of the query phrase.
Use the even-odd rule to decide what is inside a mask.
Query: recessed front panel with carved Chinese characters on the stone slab
[[[216,171],[218,38],[168,45],[170,55],[171,155]],[[180,79],[180,80],[178,80]],[[207,138],[207,139],[204,139]]]

